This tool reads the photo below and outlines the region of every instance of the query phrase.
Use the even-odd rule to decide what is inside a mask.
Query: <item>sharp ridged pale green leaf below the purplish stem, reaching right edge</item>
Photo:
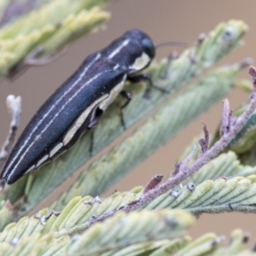
[[[195,215],[204,212],[256,212],[255,179],[256,176],[207,180],[192,191],[186,186],[180,191],[172,191],[171,195],[163,195],[146,208],[182,208]]]

